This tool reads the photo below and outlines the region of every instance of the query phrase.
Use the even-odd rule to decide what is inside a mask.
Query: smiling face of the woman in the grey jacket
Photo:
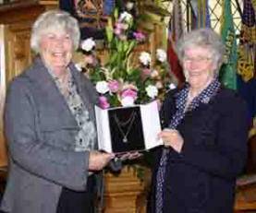
[[[64,30],[49,30],[43,33],[40,41],[40,54],[47,68],[61,75],[71,61],[73,44],[70,35]]]

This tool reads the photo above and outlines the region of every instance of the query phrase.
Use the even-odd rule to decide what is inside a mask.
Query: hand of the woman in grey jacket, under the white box
[[[90,171],[100,171],[108,164],[112,155],[109,153],[91,151],[89,157],[89,170]]]

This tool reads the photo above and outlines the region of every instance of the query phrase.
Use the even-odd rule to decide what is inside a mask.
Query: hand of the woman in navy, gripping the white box
[[[164,129],[161,133],[158,134],[164,140],[165,147],[172,147],[178,153],[183,147],[184,140],[182,136],[175,129]]]

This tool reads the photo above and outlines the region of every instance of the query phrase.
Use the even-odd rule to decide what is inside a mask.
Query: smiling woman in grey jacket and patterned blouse
[[[97,151],[96,91],[71,62],[79,24],[62,11],[35,21],[39,56],[9,85],[6,138],[9,177],[2,209],[10,213],[95,211],[96,176],[110,154]]]

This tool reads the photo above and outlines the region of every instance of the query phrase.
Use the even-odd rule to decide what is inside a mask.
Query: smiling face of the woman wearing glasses
[[[213,79],[216,67],[209,47],[191,46],[185,50],[183,69],[191,88],[203,89]]]

